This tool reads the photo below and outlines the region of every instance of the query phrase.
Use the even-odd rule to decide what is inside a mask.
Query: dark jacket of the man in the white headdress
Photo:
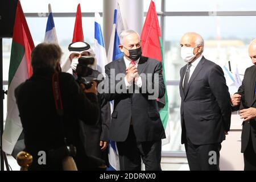
[[[90,81],[93,78],[97,78],[101,73],[88,68],[86,73],[86,81]],[[96,125],[86,125],[84,122],[80,122],[81,136],[84,142],[86,154],[93,155],[98,158],[104,159],[108,164],[108,148],[101,151],[100,140],[109,141],[109,123],[110,123],[110,104],[104,98],[103,94],[98,93],[98,106],[101,109],[100,117],[98,118]]]

